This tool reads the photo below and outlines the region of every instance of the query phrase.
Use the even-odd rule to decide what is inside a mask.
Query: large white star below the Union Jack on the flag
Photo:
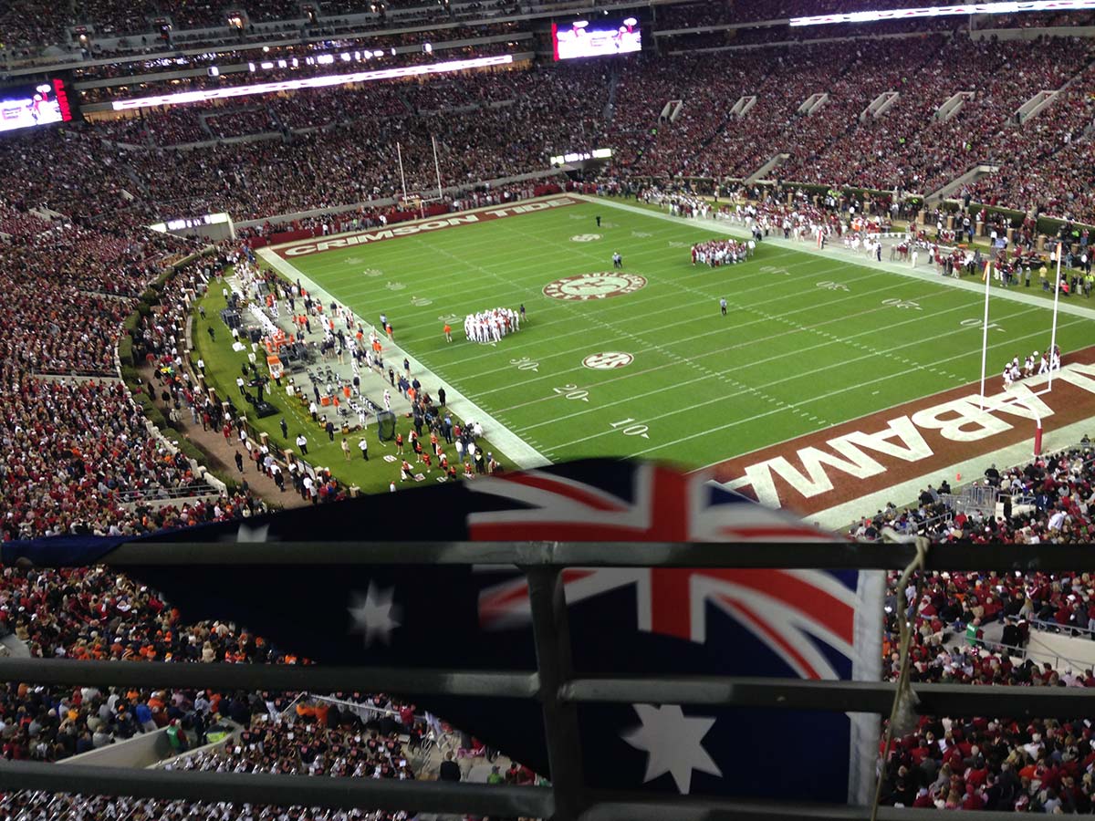
[[[678,704],[655,707],[633,704],[642,725],[621,738],[646,753],[646,775],[643,783],[665,773],[673,776],[677,790],[688,795],[692,788],[692,771],[722,776],[723,771],[703,747],[703,739],[714,726],[714,718],[685,716]]]

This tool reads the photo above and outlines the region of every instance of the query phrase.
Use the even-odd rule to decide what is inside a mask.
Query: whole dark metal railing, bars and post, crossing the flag
[[[1091,545],[943,544],[925,563],[935,570],[1087,569]],[[567,567],[900,569],[915,555],[906,544],[687,544],[687,543],[141,543],[107,555],[116,570],[130,567],[516,565],[528,578],[535,671],[422,670],[377,667],[262,664],[141,664],[57,659],[0,659],[0,680],[39,684],[175,686],[183,689],[367,691],[407,695],[535,699],[540,703],[551,786],[448,784],[372,778],[314,778],[210,772],[132,771],[45,763],[0,762],[0,789],[126,795],[189,801],[218,800],[325,808],[370,807],[422,812],[523,816],[557,821],[644,819],[866,819],[865,806],[662,799],[649,794],[597,793],[584,783],[577,707],[583,703],[655,703],[810,709],[888,715],[892,683],[806,681],[742,677],[581,677],[570,662],[570,634],[563,591]],[[1080,687],[981,687],[917,684],[915,712],[945,716],[1081,717],[1091,713]],[[965,813],[990,819],[987,812]],[[912,819],[911,809],[884,808],[878,818]]]

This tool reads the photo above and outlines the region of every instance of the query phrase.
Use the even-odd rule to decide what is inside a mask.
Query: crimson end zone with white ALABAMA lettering
[[[772,507],[810,516],[868,493],[1034,439],[1035,418],[1053,428],[1095,416],[1095,347],[1065,359],[1053,374],[991,393],[979,407],[979,383],[722,462],[713,478]],[[993,378],[993,384],[999,380]]]

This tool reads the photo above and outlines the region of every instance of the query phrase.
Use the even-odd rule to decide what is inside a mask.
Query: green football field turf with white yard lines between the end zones
[[[601,239],[570,239],[595,233]],[[689,246],[714,235],[583,204],[291,264],[359,315],[377,322],[387,312],[400,345],[552,461],[706,465],[980,375],[981,329],[960,324],[981,317],[979,294],[765,244],[745,264],[693,267]],[[645,288],[585,302],[544,296],[560,277],[610,271],[613,251]],[[464,340],[466,313],[521,302],[520,333],[496,347]],[[451,345],[441,335],[448,314],[459,317]],[[996,299],[992,319],[996,392],[1006,359],[1048,347],[1051,314]],[[1062,349],[1088,344],[1091,333],[1091,321],[1061,315]],[[635,359],[585,368],[599,351]]]

